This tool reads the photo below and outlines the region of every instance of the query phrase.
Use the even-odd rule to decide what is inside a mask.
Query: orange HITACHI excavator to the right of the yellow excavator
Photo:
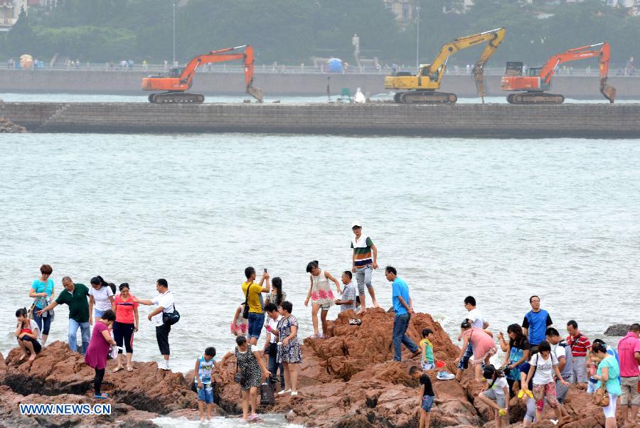
[[[600,48],[594,49],[597,46],[600,46]],[[553,55],[543,67],[530,68],[526,76],[522,75],[522,63],[507,63],[506,75],[502,77],[501,87],[505,91],[526,91],[520,94],[508,95],[507,101],[511,104],[562,104],[565,101],[565,97],[545,92],[551,87],[551,77],[555,73],[555,68],[569,61],[597,57],[600,63],[600,93],[609,102],[614,102],[616,88],[607,85],[609,55],[610,49],[607,42],[570,49]]]

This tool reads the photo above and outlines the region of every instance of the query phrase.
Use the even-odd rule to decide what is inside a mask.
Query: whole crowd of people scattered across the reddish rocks
[[[362,234],[360,222],[352,224],[351,269],[341,274],[341,282],[318,261],[309,262],[309,292],[304,306],[311,302],[313,333],[310,339],[322,340],[327,337],[327,314],[331,306],[340,306],[341,312],[353,311],[350,323],[358,325],[356,316],[367,311],[367,296],[373,307],[379,307],[375,297],[371,273],[378,269],[378,249],[370,237]],[[108,355],[117,358],[114,373],[119,370],[134,370],[132,365],[134,333],[139,329],[139,305],[154,306],[148,315],[154,323],[156,341],[162,355],[159,369],[171,370],[169,358],[169,333],[171,325],[178,322],[174,296],[166,279],[156,281],[157,295],[152,299],[139,299],[131,292],[127,283],[116,286],[107,283],[100,276],[90,280],[90,288],[76,284],[70,277],[63,277],[63,290],[55,294],[55,284],[50,278],[53,273],[48,264],[41,266],[41,276],[33,280],[29,296],[33,298],[31,309],[16,311],[16,339],[23,351],[20,360],[33,361],[46,346],[50,326],[55,318],[55,307],[66,304],[69,307],[68,343],[71,351],[78,349],[78,329],[81,331],[82,355],[85,363],[95,370],[94,397],[105,399],[102,379],[105,375]],[[353,275],[356,284],[353,284]],[[497,353],[494,333],[489,330],[481,311],[476,307],[476,299],[466,296],[463,301],[467,313],[460,325],[457,338],[462,342],[455,375],[448,373],[446,362],[435,360],[432,343],[433,331],[425,328],[422,340],[416,344],[407,335],[410,319],[415,314],[409,286],[398,276],[393,266],[385,267],[385,277],[391,283],[393,321],[393,360],[402,360],[402,345],[411,353],[411,358],[420,355],[420,367],[413,366],[410,375],[420,382],[420,427],[429,427],[430,411],[434,405],[434,391],[429,370],[437,370],[438,380],[462,381],[464,370],[473,367],[474,380],[485,385],[478,396],[481,402],[491,407],[496,414],[498,427],[508,414],[511,397],[526,400],[527,412],[524,426],[542,419],[545,405],[555,412],[556,423],[562,424],[568,417],[563,407],[570,384],[575,384],[585,393],[594,395],[594,402],[602,406],[606,427],[616,427],[615,412],[617,402],[622,406],[624,424],[635,426],[640,407],[640,325],[634,323],[629,333],[622,338],[617,352],[602,340],[593,343],[580,332],[578,323],[566,323],[568,336],[562,339],[553,320],[540,307],[540,298],[531,296],[531,310],[521,324],[508,326],[508,338],[500,331],[498,344],[504,353],[500,364],[491,364]],[[256,414],[258,390],[270,385],[272,390],[279,385],[277,395],[298,395],[297,365],[302,363],[302,348],[298,339],[299,323],[293,315],[292,301],[287,300],[282,279],[271,280],[264,269],[260,281],[253,267],[245,269],[245,282],[240,291],[244,301],[235,311],[230,331],[236,336],[236,346],[230,349],[221,363],[235,358],[235,381],[242,392],[242,417],[245,420],[258,419]],[[334,294],[332,284],[337,294]],[[367,291],[367,293],[366,293]],[[320,313],[320,323],[318,321]],[[93,326],[93,331],[91,331]],[[265,328],[265,344],[260,348],[258,340]],[[124,360],[123,353],[126,353]],[[210,418],[215,399],[213,370],[215,348],[208,347],[203,355],[196,358],[194,385],[198,392],[201,419]],[[265,358],[267,363],[265,363]],[[494,358],[496,360],[496,358]],[[279,374],[279,376],[278,376]]]

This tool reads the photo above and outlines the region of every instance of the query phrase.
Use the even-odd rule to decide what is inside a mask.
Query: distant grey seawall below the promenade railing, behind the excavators
[[[151,72],[98,71],[98,70],[1,70],[1,92],[65,92],[92,94],[144,95],[141,90],[142,77]],[[318,74],[318,73],[257,73],[255,86],[265,95],[325,95],[327,77],[331,95],[339,95],[341,88],[348,87],[351,93],[361,87],[370,94],[388,93],[384,75],[378,74]],[[506,97],[509,92],[500,89],[499,75],[486,75],[486,95]],[[640,76],[612,76],[609,84],[617,88],[617,97],[640,100]],[[471,75],[446,75],[442,80],[442,91],[454,92],[459,97],[477,97],[476,86]],[[192,92],[205,95],[228,95],[244,93],[241,73],[201,72],[193,77]],[[599,78],[592,76],[557,75],[553,77],[550,92],[567,98],[601,100]]]

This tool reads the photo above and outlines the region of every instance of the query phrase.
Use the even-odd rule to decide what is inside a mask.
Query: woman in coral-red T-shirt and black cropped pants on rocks
[[[122,370],[122,347],[127,351],[127,371],[133,371],[131,360],[133,358],[133,337],[138,331],[140,321],[138,319],[138,306],[136,296],[131,294],[129,284],[123,282],[119,287],[118,294],[113,301],[113,311],[116,320],[113,323],[113,336],[118,346],[118,365],[113,369],[113,373]]]

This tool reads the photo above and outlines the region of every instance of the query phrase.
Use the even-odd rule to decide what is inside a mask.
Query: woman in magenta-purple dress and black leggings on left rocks
[[[115,312],[109,309],[97,320],[91,335],[91,341],[85,354],[85,363],[95,370],[95,378],[93,379],[93,397],[107,398],[107,394],[100,392],[102,387],[102,378],[105,377],[105,368],[107,367],[107,355],[112,345],[116,342],[111,337],[109,328],[115,321]]]

